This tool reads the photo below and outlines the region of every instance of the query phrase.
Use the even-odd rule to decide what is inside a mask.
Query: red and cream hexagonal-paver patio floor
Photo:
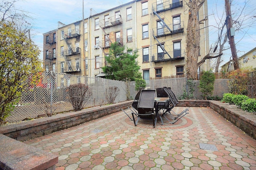
[[[256,140],[210,108],[152,124],[119,111],[24,143],[58,155],[56,170],[256,170]]]

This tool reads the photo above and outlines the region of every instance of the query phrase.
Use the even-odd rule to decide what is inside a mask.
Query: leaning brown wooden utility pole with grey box
[[[230,8],[230,0],[225,0],[225,9],[226,9],[226,25],[228,32],[228,39],[230,44],[230,50],[232,54],[232,59],[234,61],[234,69],[239,69],[239,62],[236,53],[236,44],[234,41],[234,35],[231,34],[230,28],[232,28],[232,16],[231,16],[231,8]]]

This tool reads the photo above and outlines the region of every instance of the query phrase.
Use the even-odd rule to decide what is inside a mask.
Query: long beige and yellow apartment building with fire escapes
[[[207,1],[198,12],[208,15]],[[183,0],[133,0],[57,30],[57,72],[104,76],[110,44],[138,49],[145,80],[184,74],[188,6]],[[200,24],[200,56],[208,54],[208,21]],[[84,28],[83,28],[84,27]],[[84,29],[84,33],[82,33]],[[84,40],[84,41],[83,41]],[[84,47],[83,47],[84,46]],[[132,53],[132,51],[124,51]],[[202,56],[202,57],[201,57]],[[207,60],[198,71],[209,70]]]

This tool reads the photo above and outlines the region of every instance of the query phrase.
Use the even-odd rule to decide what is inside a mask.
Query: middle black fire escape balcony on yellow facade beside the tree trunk
[[[166,26],[160,27],[160,28],[153,28],[153,35],[156,37],[163,37],[167,35],[173,35],[176,33],[182,33],[184,32],[184,22],[181,21],[178,24],[170,24],[167,25],[172,31],[170,31]]]

